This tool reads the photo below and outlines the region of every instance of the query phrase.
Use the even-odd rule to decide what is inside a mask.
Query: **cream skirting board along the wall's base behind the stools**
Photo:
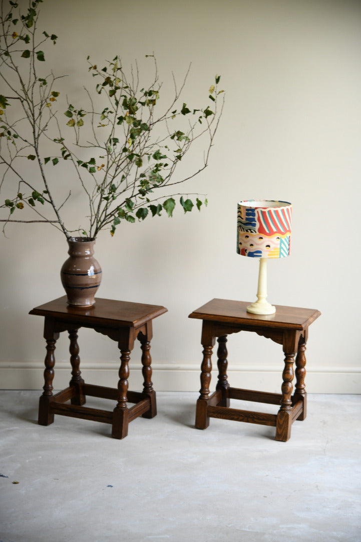
[[[129,389],[143,387],[142,367],[130,363]],[[87,384],[116,388],[118,369],[114,362],[81,364],[82,377]],[[200,367],[195,364],[152,364],[152,382],[156,391],[199,391]],[[306,367],[306,391],[309,393],[361,393],[361,367]],[[44,385],[44,365],[39,362],[0,363],[0,389],[41,390]],[[69,362],[55,365],[53,386],[55,390],[65,388],[71,378]],[[280,392],[282,367],[238,366],[227,371],[233,388]],[[217,383],[217,365],[213,367],[210,389]],[[293,380],[295,383],[295,379]]]

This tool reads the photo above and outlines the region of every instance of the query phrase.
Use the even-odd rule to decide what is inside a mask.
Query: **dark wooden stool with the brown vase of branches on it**
[[[39,400],[38,423],[49,425],[54,422],[54,414],[83,418],[97,422],[110,423],[113,438],[124,438],[128,435],[128,424],[138,416],[153,418],[157,414],[156,392],[151,382],[150,341],[152,339],[152,320],[165,313],[167,309],[158,305],[144,305],[126,301],[97,298],[96,304],[90,308],[70,307],[66,296],[45,303],[30,311],[45,317],[44,338],[46,340],[46,357],[43,395]],[[79,347],[77,343],[80,327],[90,327],[117,341],[121,351],[121,367],[119,369],[118,388],[85,384],[79,369]],[[53,395],[52,380],[54,378],[55,344],[59,333],[68,331],[70,339],[70,363],[72,378],[69,387]],[[144,377],[143,391],[128,391],[129,360],[135,340],[138,339],[142,349],[142,373]],[[113,399],[117,405],[113,411],[87,408],[83,406],[85,396]],[[70,400],[70,404],[65,404]],[[135,403],[128,408],[127,402]]]

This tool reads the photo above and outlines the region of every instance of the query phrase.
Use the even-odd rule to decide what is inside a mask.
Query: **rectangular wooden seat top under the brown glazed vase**
[[[167,309],[161,305],[102,298],[96,298],[95,305],[91,307],[70,307],[64,295],[33,308],[29,314],[89,324],[139,327],[165,312]]]

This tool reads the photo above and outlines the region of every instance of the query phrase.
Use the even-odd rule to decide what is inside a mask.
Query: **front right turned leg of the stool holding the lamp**
[[[277,415],[276,440],[286,442],[291,436],[292,427],[292,380],[293,380],[293,362],[295,354],[285,354],[285,367],[282,373],[282,399],[281,406]]]

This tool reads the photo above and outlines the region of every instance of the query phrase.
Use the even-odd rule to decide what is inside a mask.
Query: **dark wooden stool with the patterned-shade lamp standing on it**
[[[196,428],[205,429],[209,418],[223,418],[239,422],[258,423],[276,427],[276,440],[288,441],[295,420],[306,417],[306,341],[309,325],[320,316],[314,309],[282,307],[276,313],[260,316],[246,311],[249,302],[212,299],[193,311],[189,318],[203,320],[203,362],[200,375],[200,396],[196,409]],[[226,374],[228,360],[226,341],[230,333],[255,331],[283,346],[285,354],[282,373],[282,393],[231,388]],[[218,338],[218,382],[210,395],[212,349]],[[296,388],[292,395],[293,362],[296,356]],[[230,399],[280,405],[277,415],[230,408]]]

